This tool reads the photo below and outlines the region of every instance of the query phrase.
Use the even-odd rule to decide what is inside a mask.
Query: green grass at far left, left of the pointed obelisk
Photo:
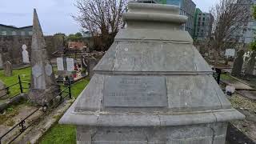
[[[25,80],[26,81],[30,80],[30,73],[31,73],[31,68],[28,67],[21,70],[13,70],[13,75],[11,77],[6,77],[4,74],[4,71],[0,70],[0,79],[2,80],[2,82],[6,84],[6,86],[11,86],[14,83],[18,82],[18,75],[20,75],[23,82],[25,82]],[[28,87],[28,84],[23,83],[22,86]],[[9,91],[10,91],[10,94],[9,94],[10,97],[14,96],[15,94],[19,94],[20,93],[19,85],[10,87]],[[27,90],[24,89],[24,92],[26,91]]]

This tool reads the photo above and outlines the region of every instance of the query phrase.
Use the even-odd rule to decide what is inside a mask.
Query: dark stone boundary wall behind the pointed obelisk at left
[[[49,58],[52,53],[62,49],[63,38],[61,36],[46,36],[46,50]],[[31,51],[31,36],[0,36],[0,62],[10,61],[14,65],[22,64],[22,45],[26,44],[27,51]],[[2,63],[0,63],[0,67]]]

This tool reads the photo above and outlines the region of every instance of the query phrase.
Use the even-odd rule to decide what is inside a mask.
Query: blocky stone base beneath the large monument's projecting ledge
[[[78,126],[78,144],[225,144],[227,122],[192,126]]]

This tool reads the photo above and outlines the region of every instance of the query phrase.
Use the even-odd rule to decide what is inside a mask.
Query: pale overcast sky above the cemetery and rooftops
[[[75,0],[1,0],[0,24],[11,26],[32,25],[33,8],[38,11],[45,35],[62,32],[75,33],[81,30],[71,17],[76,14]],[[209,11],[218,0],[193,0],[202,11]]]

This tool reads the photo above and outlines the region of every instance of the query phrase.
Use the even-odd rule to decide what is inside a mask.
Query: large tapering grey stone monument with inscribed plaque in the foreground
[[[230,106],[178,6],[129,3],[125,30],[60,120],[78,143],[224,144]]]

